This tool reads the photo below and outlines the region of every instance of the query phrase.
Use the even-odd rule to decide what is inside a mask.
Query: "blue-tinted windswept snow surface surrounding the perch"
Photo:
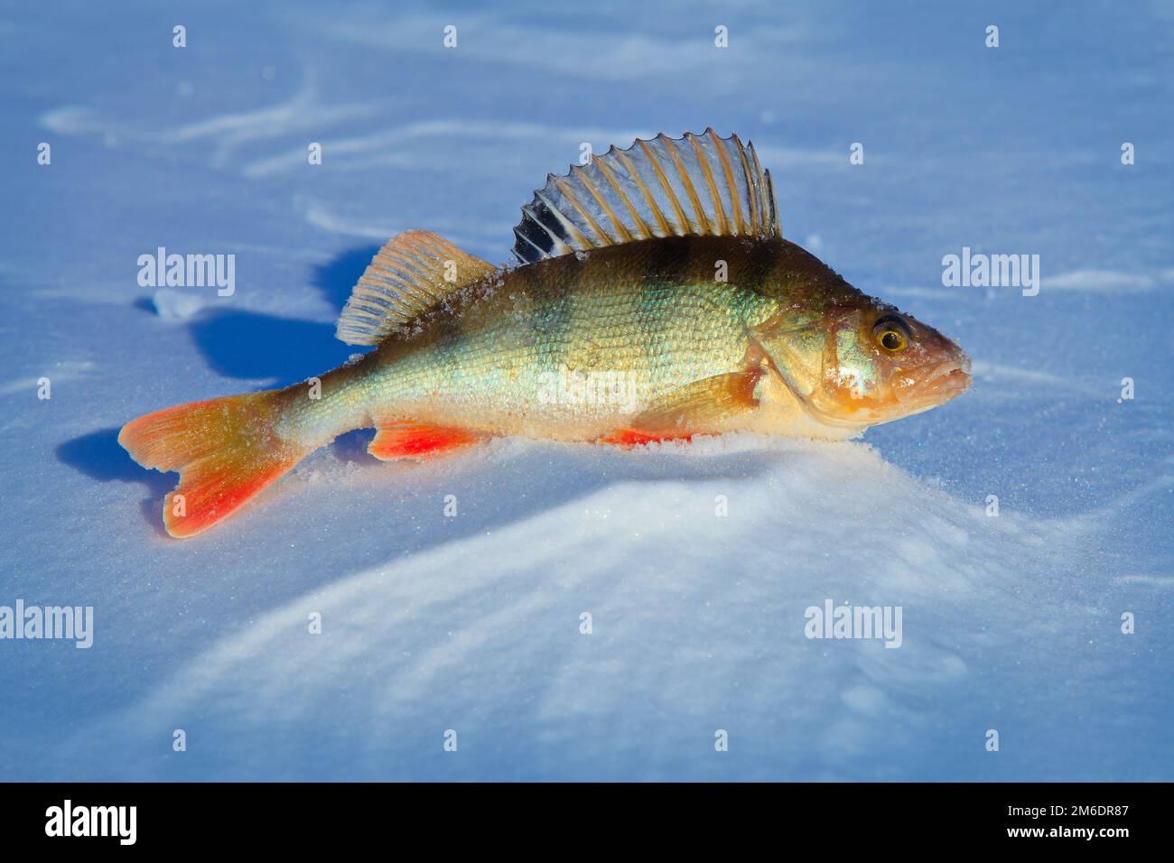
[[[96,629],[0,641],[0,778],[1174,778],[1170,6],[787,6],[0,13],[0,605]],[[581,142],[710,124],[972,392],[849,444],[355,432],[163,534],[124,422],[345,360],[390,234],[502,261]],[[1039,296],[943,288],[964,245],[1040,255]],[[235,254],[236,292],[140,286],[157,247]],[[900,606],[902,647],[807,639],[828,599]]]

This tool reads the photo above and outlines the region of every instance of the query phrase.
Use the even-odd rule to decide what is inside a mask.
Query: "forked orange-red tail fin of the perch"
[[[194,537],[236,512],[310,451],[281,438],[276,391],[168,407],[122,426],[119,443],[143,467],[178,471],[163,501],[173,537]]]

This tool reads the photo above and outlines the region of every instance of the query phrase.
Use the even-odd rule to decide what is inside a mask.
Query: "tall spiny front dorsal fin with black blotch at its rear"
[[[513,254],[524,264],[653,237],[782,236],[754,144],[713,129],[612,147],[548,175],[521,214]]]

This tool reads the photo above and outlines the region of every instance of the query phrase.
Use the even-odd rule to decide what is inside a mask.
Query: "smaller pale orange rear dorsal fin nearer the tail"
[[[431,231],[405,231],[389,240],[367,265],[335,335],[346,344],[378,344],[494,270]]]

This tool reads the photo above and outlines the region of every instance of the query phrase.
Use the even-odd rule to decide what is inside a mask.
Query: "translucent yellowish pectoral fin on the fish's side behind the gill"
[[[757,406],[754,387],[760,377],[761,369],[750,369],[695,380],[655,402],[630,425],[605,434],[600,443],[635,446],[723,431],[727,420]]]

